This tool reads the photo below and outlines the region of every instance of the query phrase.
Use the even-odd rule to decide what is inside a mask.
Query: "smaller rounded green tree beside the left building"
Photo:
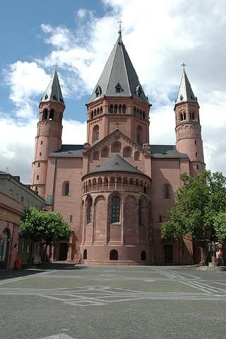
[[[52,246],[57,241],[69,239],[71,229],[59,212],[48,212],[28,208],[25,215],[20,220],[20,236],[31,240],[29,265],[32,261],[32,248],[35,242],[45,244],[42,263],[47,254],[47,247]]]

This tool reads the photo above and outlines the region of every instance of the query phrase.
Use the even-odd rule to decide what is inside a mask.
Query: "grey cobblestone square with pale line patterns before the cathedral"
[[[225,274],[69,264],[0,271],[0,339],[226,338]]]

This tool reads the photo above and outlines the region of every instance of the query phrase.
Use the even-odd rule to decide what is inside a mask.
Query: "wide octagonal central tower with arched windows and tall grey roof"
[[[138,145],[149,143],[150,104],[121,40],[121,28],[87,109],[90,145],[115,129]]]

